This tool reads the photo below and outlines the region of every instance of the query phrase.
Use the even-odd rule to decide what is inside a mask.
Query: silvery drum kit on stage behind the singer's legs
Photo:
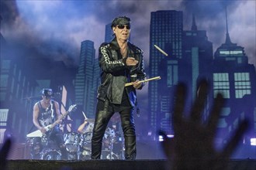
[[[88,121],[88,126],[84,134],[77,132],[67,132],[64,134],[64,143],[67,149],[68,160],[87,160],[91,158],[92,151],[92,129],[94,121]],[[29,146],[33,145],[33,138],[27,140]],[[40,159],[43,160],[61,160],[61,151],[53,147],[50,139],[42,139],[43,151],[40,152]],[[102,159],[123,159],[124,147],[123,138],[114,128],[106,128],[102,139]],[[33,154],[31,154],[33,158]]]

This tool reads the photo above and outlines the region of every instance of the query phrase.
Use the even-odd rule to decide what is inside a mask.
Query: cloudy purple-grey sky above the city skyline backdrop
[[[127,15],[132,20],[131,42],[144,50],[148,66],[150,12],[182,11],[185,30],[191,29],[192,13],[195,13],[197,28],[207,31],[215,52],[225,42],[226,5],[231,42],[244,46],[249,63],[256,66],[254,0],[1,1],[1,32],[14,46],[12,53],[21,59],[23,56],[47,57],[78,66],[81,41],[95,42],[97,53],[104,41],[106,24],[116,16]],[[147,88],[142,93],[144,91]]]

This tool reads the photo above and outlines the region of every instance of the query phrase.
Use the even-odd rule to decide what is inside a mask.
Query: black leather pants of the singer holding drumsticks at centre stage
[[[137,150],[133,107],[116,107],[109,104],[107,100],[105,102],[99,100],[92,134],[92,159],[99,159],[101,156],[102,138],[109,120],[115,112],[119,112],[121,118],[125,140],[125,158],[131,160],[136,158]]]

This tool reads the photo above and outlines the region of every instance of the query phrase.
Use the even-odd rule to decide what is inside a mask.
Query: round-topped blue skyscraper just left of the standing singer
[[[87,117],[95,116],[96,92],[99,86],[98,65],[94,42],[81,42],[80,65],[74,80],[75,104],[82,107]]]

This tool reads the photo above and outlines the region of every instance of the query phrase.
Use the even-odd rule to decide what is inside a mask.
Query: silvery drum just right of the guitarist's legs
[[[64,134],[64,142],[69,152],[76,152],[78,151],[78,146],[80,143],[79,134],[76,132],[68,132]]]

